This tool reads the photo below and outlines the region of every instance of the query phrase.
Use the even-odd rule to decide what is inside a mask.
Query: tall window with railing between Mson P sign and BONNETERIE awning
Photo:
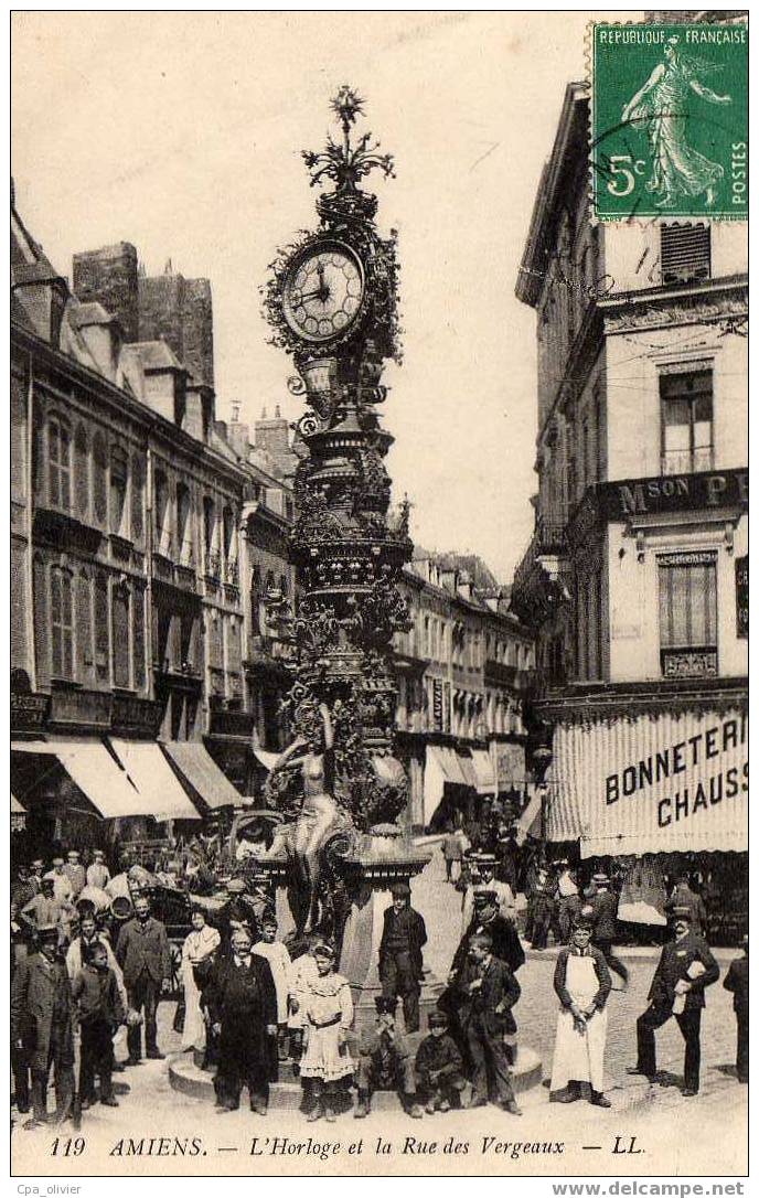
[[[664,678],[717,673],[717,555],[662,553],[658,636]]]

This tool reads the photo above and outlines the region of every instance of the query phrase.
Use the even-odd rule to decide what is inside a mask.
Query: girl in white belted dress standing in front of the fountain
[[[351,1059],[347,1033],[353,1022],[353,999],[347,978],[334,972],[335,954],[330,944],[314,949],[317,975],[302,991],[304,1016],[304,1053],[300,1077],[311,1091],[309,1123],[335,1119],[335,1091],[356,1065]]]

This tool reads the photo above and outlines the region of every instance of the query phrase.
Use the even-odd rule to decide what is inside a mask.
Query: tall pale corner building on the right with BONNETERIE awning
[[[584,857],[719,851],[688,859],[705,877],[747,847],[746,232],[594,226],[587,181],[572,84],[516,285],[538,494],[512,607],[553,730],[545,829]]]

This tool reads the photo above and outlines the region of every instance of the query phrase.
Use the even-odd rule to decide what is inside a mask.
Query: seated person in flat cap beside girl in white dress
[[[395,1027],[396,1005],[395,997],[376,998],[375,1029],[362,1033],[356,1071],[358,1101],[353,1112],[357,1119],[369,1114],[375,1090],[396,1090],[406,1114],[412,1119],[423,1117],[417,1099],[414,1058],[408,1041]]]

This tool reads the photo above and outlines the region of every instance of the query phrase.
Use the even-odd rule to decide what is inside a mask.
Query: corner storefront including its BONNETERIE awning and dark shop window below
[[[715,943],[747,924],[748,720],[743,703],[681,710],[575,714],[557,721],[544,835],[572,845],[583,876],[620,879],[620,918],[666,922],[686,872],[700,889]],[[584,863],[584,864],[583,864]]]

